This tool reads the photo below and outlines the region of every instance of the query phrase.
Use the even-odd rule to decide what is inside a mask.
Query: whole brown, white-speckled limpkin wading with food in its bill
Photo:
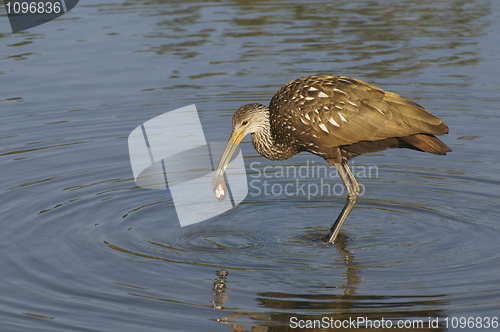
[[[333,223],[334,242],[360,193],[347,161],[388,148],[407,148],[438,155],[451,152],[434,135],[448,126],[422,106],[395,93],[345,76],[306,76],[282,86],[269,107],[241,106],[214,175],[212,190],[224,199],[224,172],[246,134],[261,155],[284,160],[308,151],[335,165],[347,189],[347,202]]]

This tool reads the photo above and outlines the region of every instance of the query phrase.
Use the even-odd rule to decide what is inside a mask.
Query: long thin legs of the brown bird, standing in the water
[[[335,167],[337,168],[337,172],[339,173],[340,178],[344,182],[344,185],[347,189],[347,202],[345,203],[342,212],[340,212],[339,216],[337,217],[337,220],[335,220],[335,222],[333,223],[332,228],[330,228],[331,235],[330,239],[328,240],[328,242],[330,243],[333,243],[339,235],[340,229],[342,228],[344,221],[347,219],[347,216],[354,207],[354,204],[356,204],[356,200],[358,199],[360,192],[359,183],[354,177],[354,174],[349,168],[349,165],[347,165],[347,162],[342,161],[342,163],[340,164],[335,164]]]

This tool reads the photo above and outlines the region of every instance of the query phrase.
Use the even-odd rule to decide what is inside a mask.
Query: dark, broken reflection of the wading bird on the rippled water
[[[409,295],[409,296],[384,296],[384,295],[357,295],[356,287],[360,283],[361,273],[359,263],[352,253],[346,248],[349,242],[347,236],[340,235],[335,241],[335,249],[338,251],[342,262],[345,264],[345,282],[343,285],[332,285],[326,288],[332,289],[331,294],[318,294],[317,291],[311,294],[304,293],[283,293],[283,292],[260,292],[255,300],[259,308],[266,308],[267,312],[244,312],[225,309],[230,303],[229,296],[226,295],[228,273],[217,271],[217,279],[212,288],[214,294],[214,308],[230,311],[225,316],[218,319],[219,323],[227,324],[233,331],[290,331],[291,319],[298,320],[319,320],[324,317],[332,320],[357,320],[358,317],[368,320],[391,320],[396,325],[398,320],[421,320],[424,322],[423,328],[419,331],[446,331],[447,328],[442,322],[446,317],[444,308],[448,303],[444,300],[445,294],[441,295]],[[333,289],[342,290],[340,294],[334,294]],[[435,309],[443,307],[443,310]],[[422,309],[416,309],[422,308]],[[426,309],[434,308],[434,309]],[[439,318],[437,327],[428,328],[428,320]],[[252,326],[248,327],[248,318],[252,321]],[[308,328],[308,331],[324,331],[325,329]],[[372,328],[360,325],[359,330],[372,330]],[[380,329],[379,329],[380,330]],[[382,329],[383,330],[383,329]],[[411,330],[414,328],[398,328],[398,331]]]

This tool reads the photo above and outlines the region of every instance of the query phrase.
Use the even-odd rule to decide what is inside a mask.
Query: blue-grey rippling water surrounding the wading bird
[[[88,0],[16,34],[3,14],[0,330],[288,331],[294,317],[360,317],[439,331],[500,316],[499,13],[479,0]],[[235,109],[310,74],[422,104],[453,152],[356,158],[377,173],[360,178],[335,245],[319,237],[344,195],[263,191],[296,181],[278,165],[325,165],[312,155],[272,162],[245,139],[261,182],[187,227],[168,191],[136,186],[127,137],[143,122],[195,103],[207,140],[225,141]]]

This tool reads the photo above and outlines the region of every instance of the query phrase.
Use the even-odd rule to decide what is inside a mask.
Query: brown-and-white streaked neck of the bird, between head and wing
[[[296,154],[289,145],[280,144],[271,132],[269,113],[266,113],[266,121],[263,121],[259,130],[252,133],[252,143],[258,153],[270,160],[284,160]]]

